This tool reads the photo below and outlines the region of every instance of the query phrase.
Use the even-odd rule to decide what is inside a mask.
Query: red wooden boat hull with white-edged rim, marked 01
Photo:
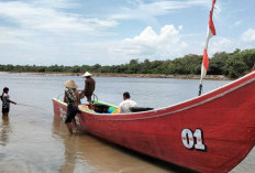
[[[126,115],[82,110],[87,132],[199,172],[229,172],[255,144],[255,72],[203,96]],[[53,99],[56,116],[66,104]]]

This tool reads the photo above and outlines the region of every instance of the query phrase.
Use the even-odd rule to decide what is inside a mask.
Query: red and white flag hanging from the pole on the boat
[[[208,25],[208,34],[207,34],[207,43],[206,47],[203,50],[203,60],[202,60],[202,65],[201,65],[201,80],[203,77],[207,75],[207,71],[209,67],[209,58],[208,58],[208,43],[209,40],[217,34],[215,28],[212,21],[212,14],[213,14],[213,9],[217,0],[212,0],[212,9],[210,11],[210,17],[209,17],[209,25]]]

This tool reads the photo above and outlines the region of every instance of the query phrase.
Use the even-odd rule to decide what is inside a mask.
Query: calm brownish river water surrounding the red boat
[[[63,94],[63,82],[78,76],[0,74],[0,89],[10,88],[9,119],[0,120],[0,173],[167,173],[184,172],[168,163],[144,156],[91,136],[70,136],[63,122],[54,120],[52,98]],[[198,94],[197,79],[95,77],[100,100],[119,105],[130,91],[138,106],[166,107]],[[230,82],[204,80],[204,91]],[[26,106],[24,106],[26,105]],[[255,151],[232,172],[254,172]]]

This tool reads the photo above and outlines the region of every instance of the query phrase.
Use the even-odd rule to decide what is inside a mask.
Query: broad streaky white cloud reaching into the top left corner
[[[0,18],[19,24],[21,29],[55,33],[90,32],[89,34],[96,34],[102,28],[118,24],[113,20],[87,19],[78,14],[65,13],[55,9],[55,3],[53,3],[53,7],[42,7],[38,6],[41,3],[0,2]]]

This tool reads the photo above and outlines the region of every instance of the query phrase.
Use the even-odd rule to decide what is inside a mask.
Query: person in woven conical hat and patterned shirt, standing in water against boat
[[[74,123],[76,128],[76,121],[75,116],[80,112],[78,109],[79,105],[79,93],[77,90],[78,86],[75,84],[73,79],[69,79],[64,83],[66,86],[65,95],[64,95],[64,102],[67,102],[67,113],[66,113],[66,120],[65,123],[69,130],[70,133],[73,133],[73,127],[71,123]]]

